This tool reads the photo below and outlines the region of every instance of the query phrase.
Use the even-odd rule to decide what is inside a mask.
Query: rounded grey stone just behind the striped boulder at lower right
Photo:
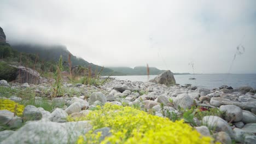
[[[239,122],[243,118],[242,109],[235,105],[222,105],[219,107],[219,110],[225,112],[226,121]]]

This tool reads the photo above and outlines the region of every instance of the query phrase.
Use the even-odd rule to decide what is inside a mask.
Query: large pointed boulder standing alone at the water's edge
[[[164,73],[156,76],[154,79],[149,82],[165,84],[167,86],[172,86],[176,84],[173,73],[170,70],[165,71]]]

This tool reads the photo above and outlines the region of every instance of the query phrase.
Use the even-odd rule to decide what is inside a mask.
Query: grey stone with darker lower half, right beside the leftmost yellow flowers
[[[40,120],[42,117],[42,113],[33,105],[27,105],[23,111],[23,121],[25,122]]]

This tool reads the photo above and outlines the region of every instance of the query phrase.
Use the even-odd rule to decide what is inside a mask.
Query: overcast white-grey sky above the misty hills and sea
[[[9,43],[61,44],[105,67],[256,73],[256,1],[0,1]]]

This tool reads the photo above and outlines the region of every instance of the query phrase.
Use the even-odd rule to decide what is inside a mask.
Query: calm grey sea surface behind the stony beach
[[[156,75],[150,75],[149,80]],[[112,76],[119,80],[130,81],[148,81],[147,75],[132,75],[132,76]],[[250,86],[256,89],[256,74],[195,74],[195,75],[174,75],[176,83],[184,85],[190,83],[193,86],[201,88],[218,88],[222,85],[238,88],[241,86]],[[189,80],[195,77],[196,80]]]

